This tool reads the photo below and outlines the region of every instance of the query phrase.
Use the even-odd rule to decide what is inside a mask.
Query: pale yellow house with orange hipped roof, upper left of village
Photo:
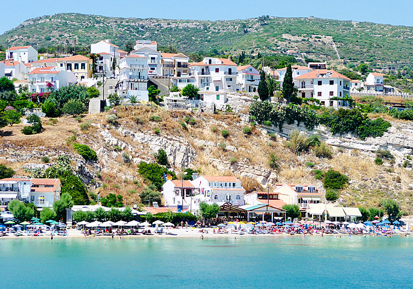
[[[92,78],[92,59],[83,55],[72,55],[57,60],[58,69],[71,71],[79,81]]]

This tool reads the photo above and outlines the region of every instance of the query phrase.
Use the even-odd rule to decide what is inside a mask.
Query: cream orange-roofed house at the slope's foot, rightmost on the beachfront
[[[303,212],[309,208],[309,204],[322,203],[324,197],[313,184],[280,183],[276,184],[274,193],[286,204],[298,205]]]

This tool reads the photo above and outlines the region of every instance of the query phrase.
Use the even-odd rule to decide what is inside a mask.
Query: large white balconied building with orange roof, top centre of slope
[[[226,58],[206,57],[190,64],[190,73],[195,76],[195,86],[203,92],[236,91],[237,65]]]

